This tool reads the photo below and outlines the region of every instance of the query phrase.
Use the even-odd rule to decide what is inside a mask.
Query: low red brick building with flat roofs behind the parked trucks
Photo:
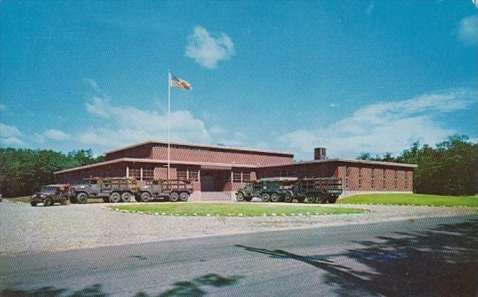
[[[167,178],[168,144],[147,141],[105,153],[105,161],[55,173],[58,182],[85,177]],[[343,196],[358,192],[412,192],[414,164],[326,158],[294,161],[293,153],[171,143],[170,178],[193,182],[191,199],[234,199],[234,191],[263,177],[338,177]]]

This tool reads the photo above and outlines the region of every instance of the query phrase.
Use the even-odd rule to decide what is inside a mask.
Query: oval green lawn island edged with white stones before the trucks
[[[256,203],[155,203],[112,206],[113,210],[173,216],[312,216],[322,214],[361,214],[364,209],[312,205]]]

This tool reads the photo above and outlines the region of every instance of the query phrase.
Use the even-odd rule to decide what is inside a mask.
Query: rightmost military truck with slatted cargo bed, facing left
[[[292,187],[298,202],[335,203],[342,194],[342,180],[335,177],[305,178],[297,180]]]

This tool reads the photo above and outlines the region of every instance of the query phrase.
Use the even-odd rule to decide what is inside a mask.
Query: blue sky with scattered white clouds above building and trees
[[[310,159],[477,140],[472,1],[1,1],[0,146]]]

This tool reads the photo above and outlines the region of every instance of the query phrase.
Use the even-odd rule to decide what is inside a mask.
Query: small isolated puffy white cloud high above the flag
[[[224,33],[214,37],[205,28],[195,27],[193,35],[189,36],[186,57],[194,59],[208,69],[215,68],[217,62],[229,59],[233,54],[232,39]]]

